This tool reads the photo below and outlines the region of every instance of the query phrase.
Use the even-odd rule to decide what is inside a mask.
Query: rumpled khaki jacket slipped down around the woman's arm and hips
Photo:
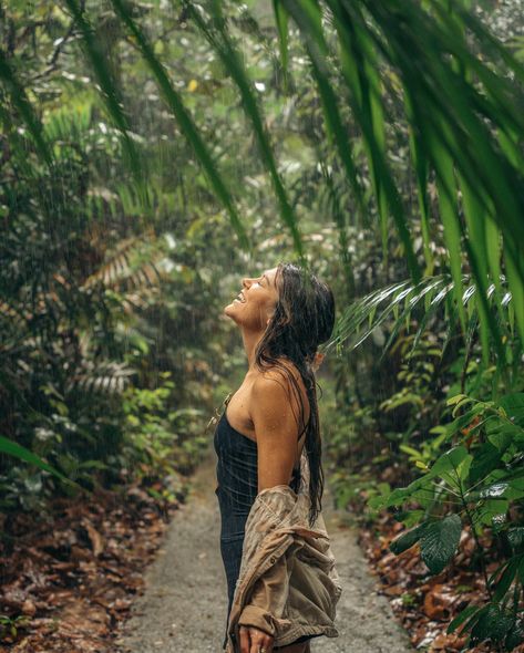
[[[271,634],[275,646],[302,635],[338,636],[335,616],[342,588],[322,515],[309,527],[309,465],[304,452],[300,476],[298,494],[278,485],[261,490],[251,506],[226,653],[238,653],[240,625]]]

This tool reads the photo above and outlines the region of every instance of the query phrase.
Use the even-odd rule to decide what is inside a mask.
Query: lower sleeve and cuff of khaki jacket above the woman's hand
[[[288,599],[291,564],[288,550],[256,580],[239,625],[253,625],[275,636],[277,620],[282,618]]]

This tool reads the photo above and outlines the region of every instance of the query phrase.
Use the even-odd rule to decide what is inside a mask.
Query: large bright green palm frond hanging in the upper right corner
[[[486,274],[497,284],[502,256],[515,298],[516,325],[524,341],[524,163],[518,146],[524,114],[520,87],[507,80],[507,69],[522,79],[522,65],[462,6],[450,10],[444,3],[413,0],[281,0],[281,7],[302,34],[317,76],[321,77],[317,85],[329,83],[332,62],[342,73],[348,95],[333,101],[340,106],[348,102],[360,125],[382,235],[389,222],[386,200],[404,243],[412,277],[418,280],[407,213],[384,148],[388,97],[381,82],[389,71],[397,74],[410,127],[427,269],[432,267],[427,196],[430,176],[434,175],[455,305],[462,305],[463,259],[469,259],[479,286]],[[328,48],[323,7],[332,15],[338,51]],[[501,66],[501,61],[507,68]],[[329,124],[331,115],[326,110],[325,118]],[[347,142],[340,133],[333,137]],[[463,214],[469,214],[465,226]],[[502,249],[496,247],[499,234]],[[465,330],[466,315],[462,308],[458,310]],[[489,330],[501,352],[496,322],[489,319],[489,311],[480,311],[484,346]]]

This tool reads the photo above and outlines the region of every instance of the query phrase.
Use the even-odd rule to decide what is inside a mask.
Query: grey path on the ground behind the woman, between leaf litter
[[[209,450],[194,476],[187,502],[175,514],[156,561],[146,573],[146,590],[117,640],[122,653],[220,653],[227,610],[226,577],[219,551],[219,514],[214,494],[216,457]],[[337,605],[340,636],[311,642],[312,653],[408,653],[408,634],[388,600],[376,592],[356,531],[342,511],[323,516],[343,592]]]

